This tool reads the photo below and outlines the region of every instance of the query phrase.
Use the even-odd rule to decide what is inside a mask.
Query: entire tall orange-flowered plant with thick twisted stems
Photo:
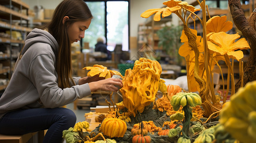
[[[234,60],[240,61],[240,64],[242,64],[243,52],[240,50],[250,49],[250,46],[245,38],[239,39],[240,35],[225,33],[233,28],[233,23],[226,21],[226,16],[211,17],[208,6],[205,5],[205,0],[201,2],[198,0],[198,3],[201,9],[196,9],[185,1],[168,0],[163,2],[167,7],[146,10],[141,14],[141,17],[148,18],[155,14],[154,20],[159,21],[161,17],[164,18],[174,13],[182,21],[183,31],[180,39],[184,44],[179,48],[179,54],[185,57],[187,62],[189,92],[199,92],[205,116],[209,117],[211,113],[221,110],[220,99],[215,95],[213,83],[211,82],[214,65],[217,64],[221,70],[218,61],[225,61],[228,66],[227,80],[231,79],[231,91],[234,94]],[[195,14],[199,10],[202,12],[202,18]],[[208,21],[206,21],[206,12],[209,15]],[[194,21],[194,25],[196,19],[200,21],[203,30],[202,37],[197,36],[195,29],[189,29],[189,19]],[[242,70],[240,71],[243,72]],[[223,102],[226,100],[229,84],[228,82]]]

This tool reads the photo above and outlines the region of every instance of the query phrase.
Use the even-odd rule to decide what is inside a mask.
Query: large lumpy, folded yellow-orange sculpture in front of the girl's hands
[[[135,61],[133,70],[125,71],[120,92],[124,106],[134,117],[137,111],[143,112],[145,106],[155,101],[161,73],[162,68],[158,61],[145,58]]]

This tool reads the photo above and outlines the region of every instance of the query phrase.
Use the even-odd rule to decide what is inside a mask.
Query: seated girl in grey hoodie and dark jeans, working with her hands
[[[63,0],[45,28],[28,34],[0,98],[1,134],[48,129],[44,143],[61,143],[62,131],[76,123],[74,112],[61,106],[97,90],[122,87],[120,79],[72,78],[71,43],[84,38],[91,19],[83,0]]]

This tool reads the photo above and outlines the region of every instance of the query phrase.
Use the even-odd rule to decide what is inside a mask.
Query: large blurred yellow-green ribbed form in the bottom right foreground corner
[[[243,143],[256,141],[256,81],[240,88],[220,113],[220,123]]]

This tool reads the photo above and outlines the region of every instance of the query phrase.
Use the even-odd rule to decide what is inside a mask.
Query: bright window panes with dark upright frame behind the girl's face
[[[109,51],[116,44],[122,44],[122,50],[129,50],[129,19],[127,0],[85,0],[93,15],[89,29],[85,31],[83,42],[89,42],[90,48],[95,48],[100,36],[106,37]]]

